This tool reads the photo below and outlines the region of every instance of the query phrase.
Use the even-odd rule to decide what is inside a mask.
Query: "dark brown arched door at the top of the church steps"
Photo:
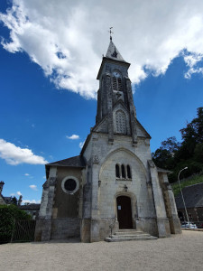
[[[119,229],[133,229],[131,199],[126,196],[119,196],[116,201]]]

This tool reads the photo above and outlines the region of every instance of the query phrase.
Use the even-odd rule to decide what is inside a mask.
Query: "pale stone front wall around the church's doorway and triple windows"
[[[125,195],[131,198],[132,218],[134,229],[145,230],[157,236],[156,214],[152,197],[152,186],[147,161],[151,159],[149,139],[138,137],[137,145],[133,145],[132,137],[127,135],[114,136],[114,142],[108,144],[108,136],[93,133],[91,135],[91,153],[85,151],[84,156],[88,161],[94,160],[97,156],[97,165],[91,164],[91,171],[88,175],[88,182],[92,183],[92,195],[97,202],[87,205],[89,220],[95,220],[94,225],[89,226],[89,235],[92,228],[97,230],[94,235],[104,239],[109,236],[109,226],[116,220],[116,197]],[[139,158],[138,158],[139,156]],[[94,158],[94,159],[93,159]],[[132,179],[116,178],[115,164],[129,164],[132,171]],[[127,186],[127,190],[125,189]],[[85,202],[84,202],[85,205]],[[96,206],[97,205],[97,206]],[[115,225],[118,228],[118,224]],[[92,240],[94,241],[94,240]]]

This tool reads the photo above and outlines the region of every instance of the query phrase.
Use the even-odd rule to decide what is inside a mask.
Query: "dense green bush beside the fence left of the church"
[[[11,240],[14,220],[31,220],[31,216],[13,204],[0,205],[0,244]]]

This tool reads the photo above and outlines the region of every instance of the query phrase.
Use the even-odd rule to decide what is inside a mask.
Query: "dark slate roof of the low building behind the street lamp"
[[[182,189],[187,208],[203,207],[203,182]],[[184,209],[181,193],[175,198],[177,209]]]

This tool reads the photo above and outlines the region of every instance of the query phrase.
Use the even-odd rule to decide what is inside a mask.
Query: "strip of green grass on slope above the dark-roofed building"
[[[199,182],[203,182],[203,173],[200,173],[198,175],[189,177],[188,179],[183,179],[180,181],[180,186],[179,186],[179,182],[173,182],[171,183],[171,187],[172,187],[172,191],[174,193],[174,196],[176,197],[179,193],[180,193],[180,187],[181,189],[192,185],[192,184],[196,184]]]

